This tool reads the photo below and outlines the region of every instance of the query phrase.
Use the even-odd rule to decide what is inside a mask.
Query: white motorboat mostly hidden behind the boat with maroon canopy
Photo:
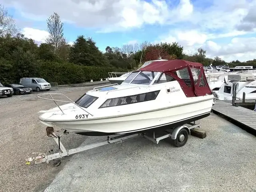
[[[152,61],[146,61],[144,62],[144,64],[140,67],[140,68],[144,68],[147,65],[149,65],[150,63],[154,62],[154,61],[167,61],[165,59],[162,58],[158,58],[157,60],[152,60]],[[140,69],[138,68],[138,70]],[[132,72],[127,72],[127,73],[121,73],[121,72],[108,72],[108,75],[110,76],[110,78],[108,78],[108,81],[111,84],[115,84],[117,83],[118,85],[120,85],[124,80],[126,80],[126,78],[131,74]],[[122,74],[121,76],[117,76],[117,74]]]

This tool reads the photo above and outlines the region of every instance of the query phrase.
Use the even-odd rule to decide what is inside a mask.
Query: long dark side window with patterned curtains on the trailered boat
[[[114,106],[155,100],[159,92],[160,90],[148,92],[148,93],[142,93],[138,95],[110,98],[110,99],[107,99],[99,108],[114,107]]]

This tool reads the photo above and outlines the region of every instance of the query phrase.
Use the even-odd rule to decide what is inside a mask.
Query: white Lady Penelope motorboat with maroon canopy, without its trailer
[[[192,75],[194,74],[194,75]],[[54,100],[41,97],[39,98]],[[95,87],[76,102],[40,111],[42,124],[103,136],[160,130],[210,115],[214,96],[203,66],[185,60],[152,61],[121,85]]]

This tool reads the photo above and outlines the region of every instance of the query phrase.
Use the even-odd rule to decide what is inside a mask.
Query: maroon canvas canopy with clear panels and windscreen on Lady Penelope
[[[124,84],[151,86],[162,82],[178,81],[187,97],[212,94],[201,63],[185,60],[154,61],[132,72]]]

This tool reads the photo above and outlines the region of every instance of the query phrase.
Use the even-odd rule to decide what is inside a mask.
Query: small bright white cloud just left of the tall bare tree
[[[36,42],[39,43],[44,43],[47,36],[49,35],[47,31],[29,27],[23,28],[21,33],[24,34],[26,38],[34,39]]]

